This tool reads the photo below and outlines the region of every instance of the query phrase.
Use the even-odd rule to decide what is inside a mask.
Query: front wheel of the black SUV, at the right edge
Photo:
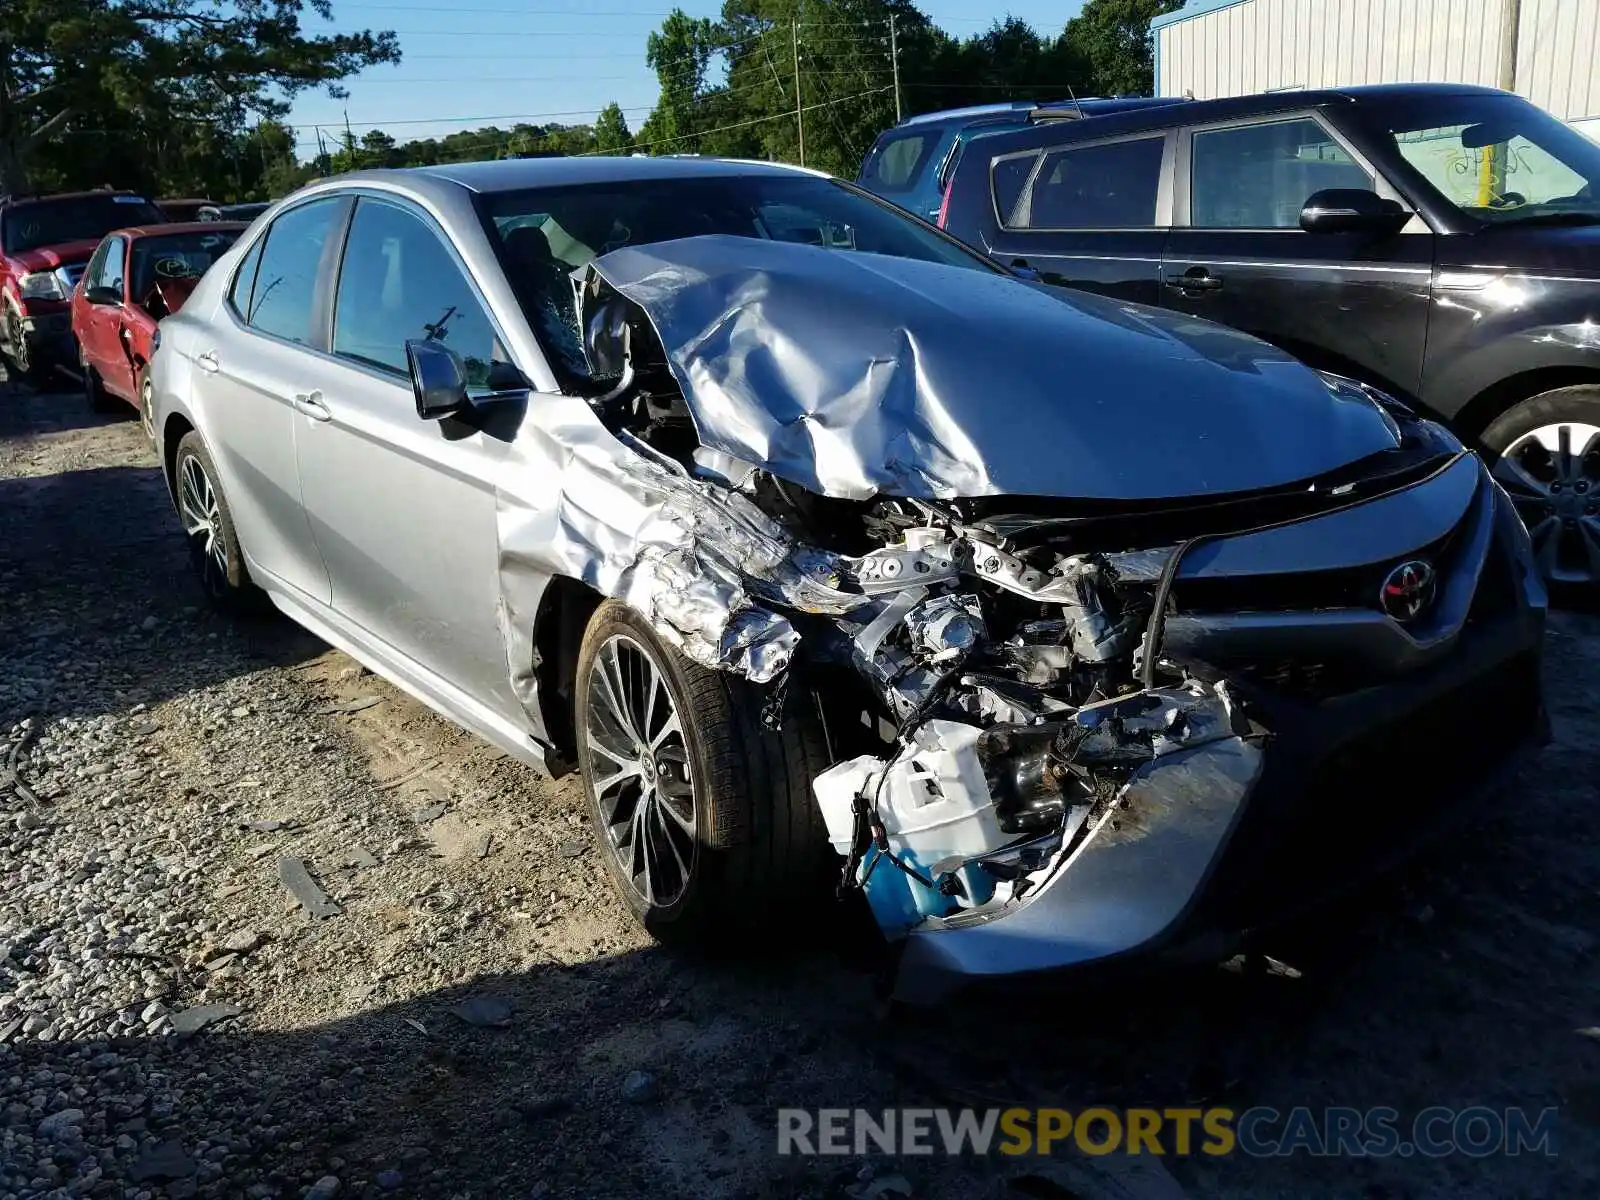
[[[1483,448],[1546,581],[1600,586],[1600,387],[1558,387],[1512,405],[1483,430]]]

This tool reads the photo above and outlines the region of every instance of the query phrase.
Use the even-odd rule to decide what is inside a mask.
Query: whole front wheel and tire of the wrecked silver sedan
[[[736,946],[819,886],[818,718],[790,690],[782,733],[742,678],[707,670],[608,600],[578,651],[578,762],[611,882],[662,941]]]

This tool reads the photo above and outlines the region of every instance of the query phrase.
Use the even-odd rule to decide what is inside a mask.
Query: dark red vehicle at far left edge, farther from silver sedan
[[[0,338],[19,376],[77,362],[67,299],[99,240],[118,226],[165,219],[133,192],[0,197]]]

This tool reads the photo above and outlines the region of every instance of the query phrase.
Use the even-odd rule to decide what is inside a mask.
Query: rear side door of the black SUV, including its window
[[[1157,131],[995,158],[984,250],[1045,283],[1160,304],[1173,141]]]

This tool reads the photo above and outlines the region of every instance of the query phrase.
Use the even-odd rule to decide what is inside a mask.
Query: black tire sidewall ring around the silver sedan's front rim
[[[656,661],[656,669],[661,672],[662,680],[667,685],[667,694],[672,698],[672,704],[678,714],[678,720],[683,725],[683,746],[688,750],[690,770],[693,773],[694,787],[694,858],[690,862],[690,880],[688,886],[683,888],[683,894],[678,896],[670,906],[653,906],[648,904],[637,891],[634,891],[634,883],[622,870],[622,864],[618,862],[616,853],[611,850],[611,842],[606,837],[605,818],[600,814],[600,802],[594,790],[594,755],[589,750],[587,738],[584,736],[584,712],[589,706],[589,686],[594,674],[594,662],[598,656],[600,648],[616,634],[626,634],[629,638],[645,646],[650,656]],[[589,826],[594,830],[595,846],[605,859],[606,874],[611,877],[611,883],[627,906],[632,909],[634,917],[653,934],[662,936],[664,939],[672,938],[675,926],[686,926],[694,923],[696,915],[710,902],[714,898],[709,894],[712,885],[709,877],[714,874],[714,851],[707,846],[706,830],[710,829],[710,787],[714,786],[714,776],[710,763],[706,755],[706,742],[701,736],[699,718],[694,709],[690,707],[688,690],[683,680],[683,659],[669,645],[666,645],[654,630],[645,622],[645,619],[635,613],[627,605],[616,600],[603,603],[597,611],[594,619],[589,622],[589,629],[584,632],[582,645],[578,650],[578,678],[573,688],[573,728],[578,734],[578,766],[582,778],[584,802],[589,810]]]

